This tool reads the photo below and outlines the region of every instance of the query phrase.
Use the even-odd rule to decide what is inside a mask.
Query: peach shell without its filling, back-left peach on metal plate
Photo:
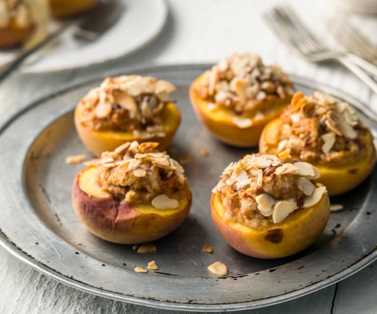
[[[164,137],[138,138],[132,132],[122,131],[94,131],[80,123],[82,107],[80,104],[75,110],[75,126],[81,141],[92,154],[99,157],[104,151],[112,151],[125,142],[138,141],[157,142],[160,150],[166,149],[173,141],[174,135],[180,124],[181,116],[178,108],[173,103],[168,103],[162,112]]]

